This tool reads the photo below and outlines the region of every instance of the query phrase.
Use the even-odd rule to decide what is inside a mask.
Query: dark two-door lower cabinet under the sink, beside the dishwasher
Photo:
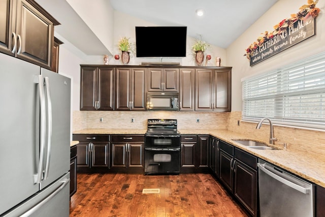
[[[220,140],[219,180],[252,215],[257,216],[257,158]]]

